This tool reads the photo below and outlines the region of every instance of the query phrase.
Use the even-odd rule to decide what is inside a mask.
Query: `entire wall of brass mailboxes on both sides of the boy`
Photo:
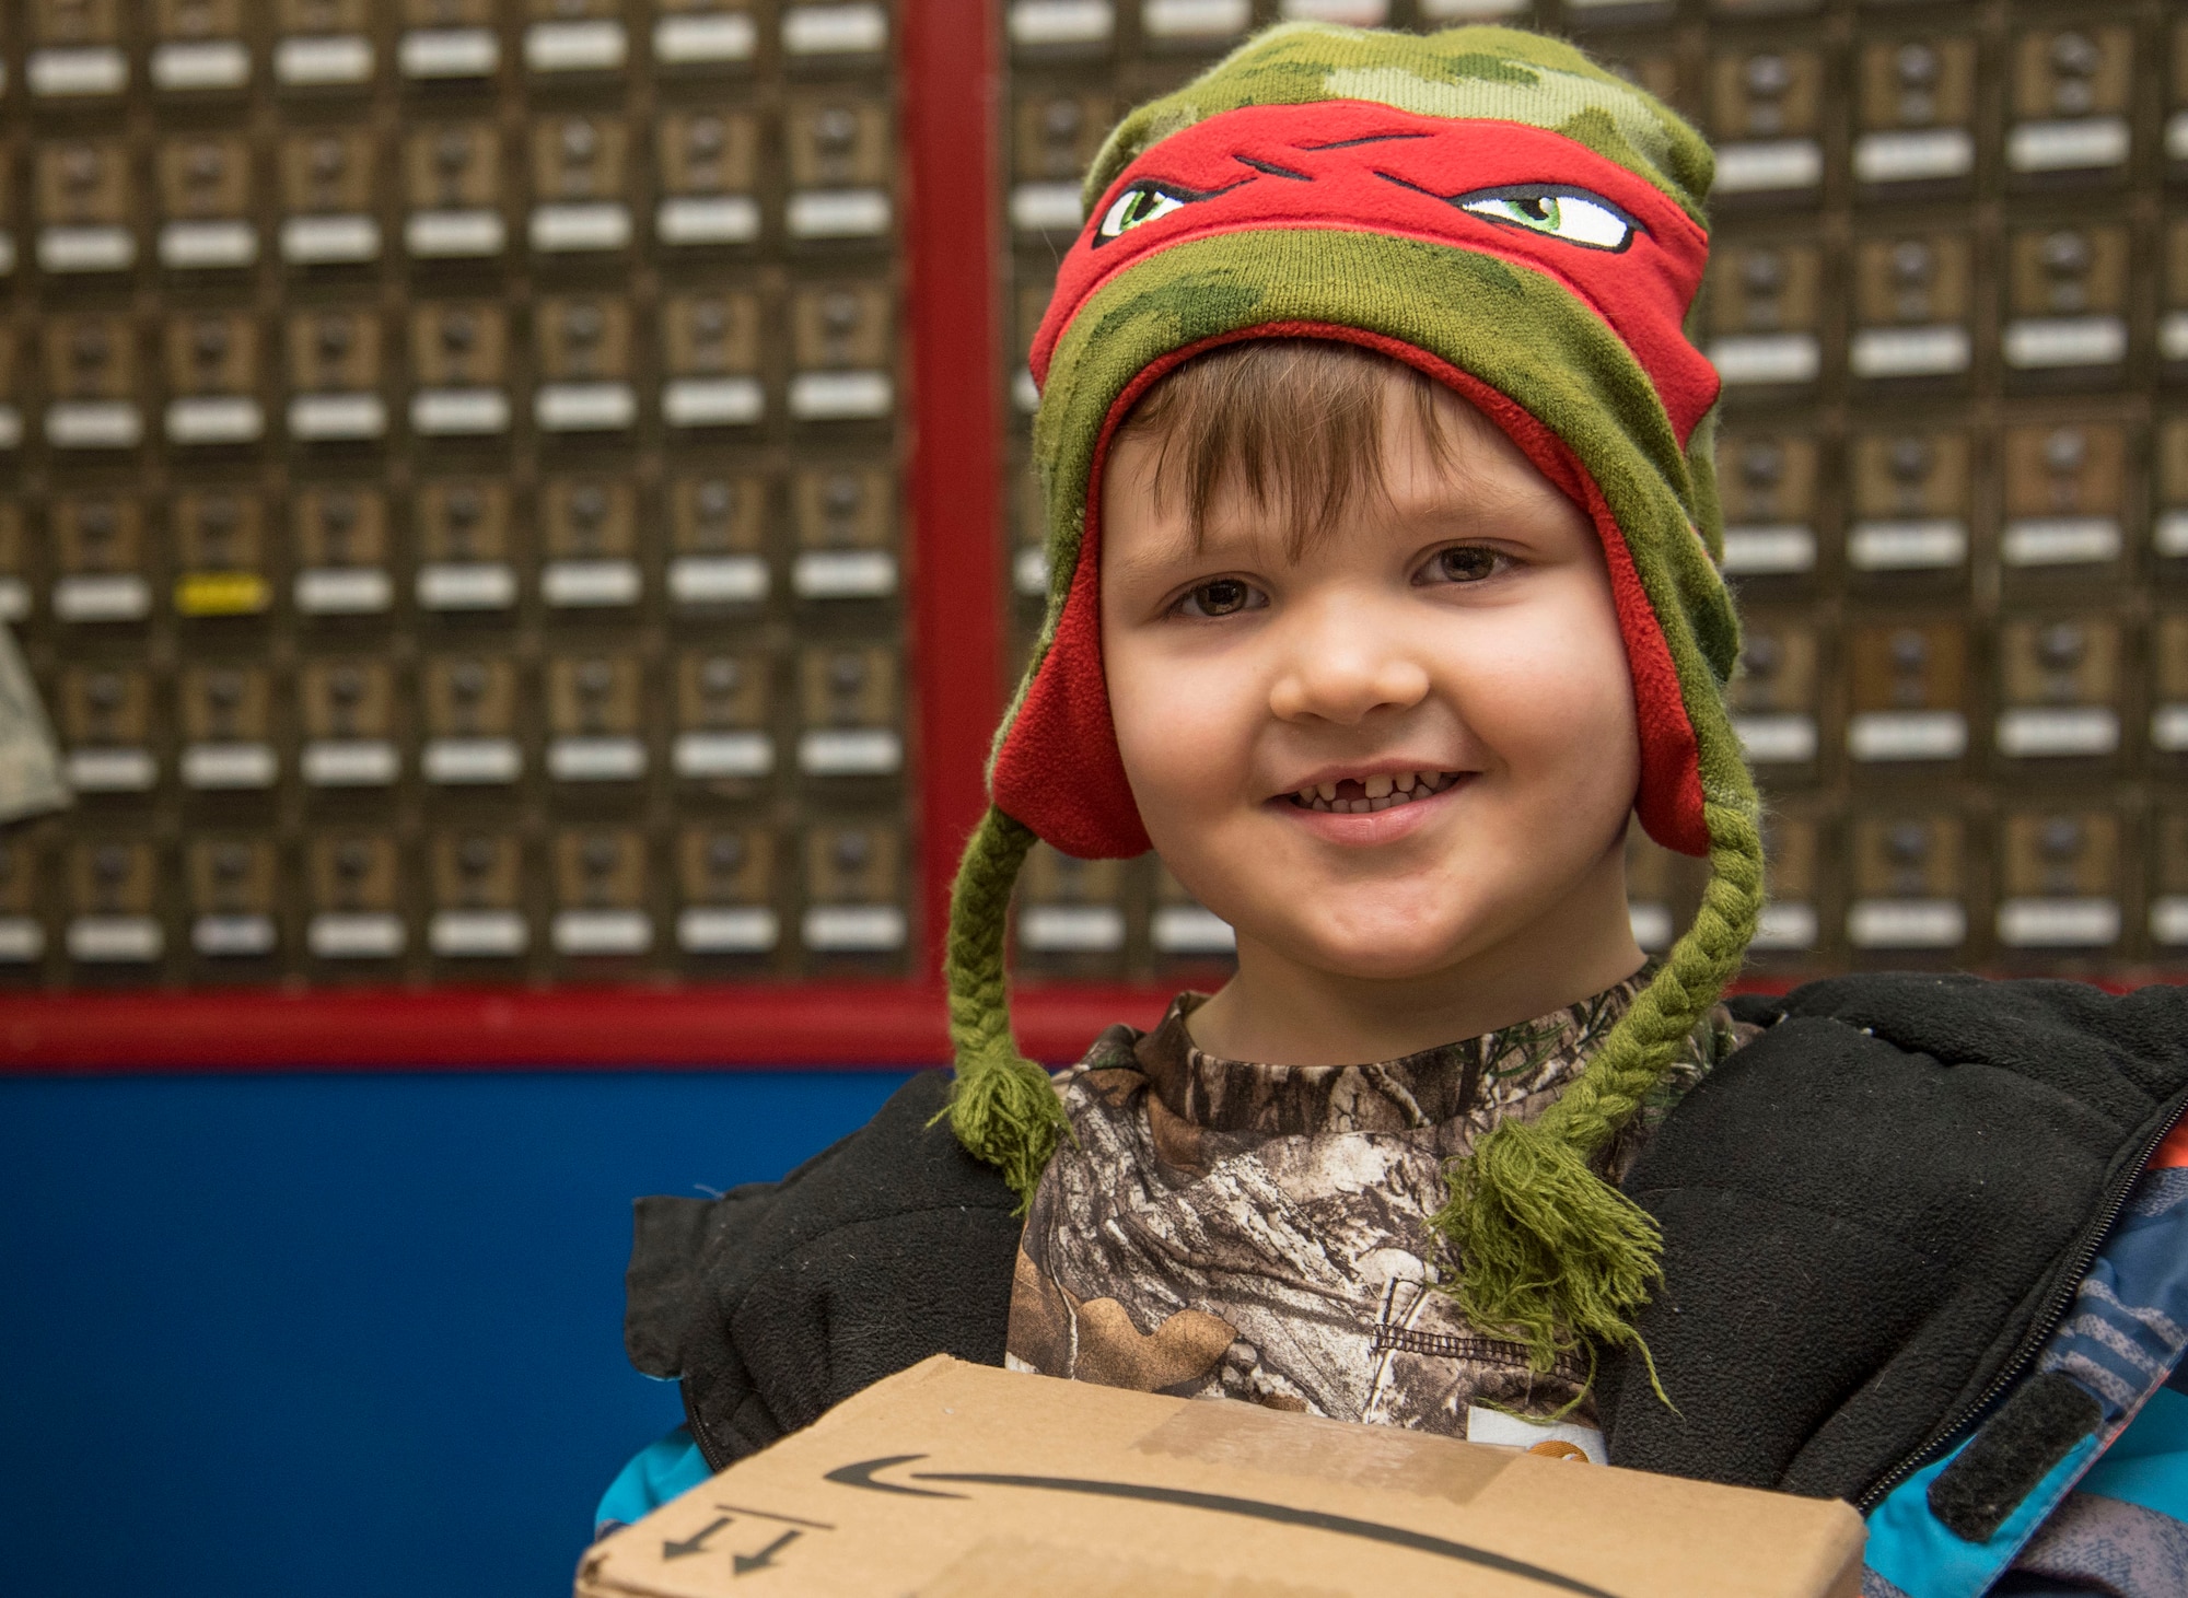
[[[1024,361],[1079,177],[1122,107],[1234,42],[1142,11],[1039,42],[998,9],[1009,514],[993,602],[1020,641],[1046,584],[1046,506],[1020,473]],[[1276,11],[1256,0],[1252,20]],[[1389,22],[1435,26],[1431,11],[1396,0]],[[904,589],[934,530],[906,517],[901,85],[888,53],[790,53],[777,9],[753,13],[737,59],[691,55],[707,31],[665,26],[718,15],[683,0],[26,2],[0,99],[0,615],[63,744],[142,749],[151,784],[90,790],[0,880],[0,913],[39,917],[53,950],[9,981],[188,983],[236,961],[260,981],[442,981],[486,970],[477,950],[497,979],[547,981],[604,959],[584,924],[558,941],[562,908],[650,917],[615,959],[683,974],[705,939],[678,941],[680,906],[779,917],[733,981],[847,950],[910,970],[901,917],[893,935],[803,922],[807,906],[901,911],[936,869],[915,873],[912,849],[923,685]],[[1814,913],[1809,939],[1781,922],[1764,959],[1893,957],[1851,937],[1860,902],[1958,904],[1963,933],[1936,959],[2048,959],[1998,922],[2013,895],[2044,898],[2024,893],[2041,880],[2037,834],[2013,830],[2024,812],[2109,817],[2087,836],[2111,838],[2114,887],[2076,893],[2116,898],[2122,919],[2090,959],[2188,959],[2188,867],[2166,876],[2162,825],[2188,817],[2188,166],[2170,153],[2188,24],[2149,4],[1844,0],[1521,20],[1571,31],[1724,153],[1689,326],[1726,377],[1715,497],[1746,606],[1729,694],[1777,817],[1772,902]],[[615,24],[624,53],[554,66],[573,22]],[[427,77],[405,63],[414,31],[484,31],[490,48]],[[241,79],[162,77],[160,46],[225,39],[245,46]],[[33,92],[33,48],[112,48],[120,88]],[[210,442],[173,431],[186,403]],[[2100,760],[2006,755],[2015,711],[2105,711],[2116,742]],[[1934,753],[1936,718],[1960,720],[1963,753]],[[687,733],[715,742],[678,766]],[[1930,753],[1858,753],[1879,736]],[[643,764],[560,779],[565,738],[628,738]],[[309,744],[372,740],[389,746],[385,781],[306,777]],[[265,744],[271,781],[193,786],[182,755],[206,742]],[[249,827],[219,806],[249,808]],[[1893,827],[1928,841],[1912,865],[1888,867]],[[269,906],[256,887],[210,898],[193,852],[245,832],[271,849]],[[385,847],[385,906],[322,904],[313,862],[335,836],[374,841],[376,862]],[[604,836],[613,869],[586,876],[580,845]],[[862,843],[831,865],[842,838]],[[2015,847],[2028,869],[2009,882]],[[127,887],[98,900],[120,908],[83,908],[85,849],[123,852],[98,878]],[[252,854],[254,884],[258,869]],[[1637,854],[1637,904],[1685,915],[1685,869]],[[2166,893],[2184,898],[2179,937],[2160,937]],[[1203,922],[1164,924],[1184,946],[1155,937],[1151,917],[1199,908],[1153,862],[1037,852],[1022,902],[1122,917],[1098,954],[1020,939],[1050,976],[1219,959],[1175,952],[1217,935]],[[427,908],[516,930],[435,943]],[[322,913],[394,915],[400,937],[313,952]],[[138,928],[123,954],[79,961],[79,915],[147,917],[164,941]],[[276,937],[249,959],[206,954],[199,915],[265,915]],[[610,946],[630,928],[600,926]],[[1094,922],[1059,926],[1079,928],[1066,943],[1094,937]],[[464,937],[484,941],[464,952]]]

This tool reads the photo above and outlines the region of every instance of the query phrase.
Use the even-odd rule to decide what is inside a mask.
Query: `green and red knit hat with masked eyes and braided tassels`
[[[1105,451],[1149,385],[1203,350],[1357,344],[1448,383],[1588,510],[1632,665],[1634,808],[1659,843],[1711,860],[1694,926],[1582,1077],[1481,1138],[1438,1215],[1459,1305],[1540,1368],[1634,1340],[1656,1228],[1588,1160],[1718,1000],[1761,902],[1755,786],[1722,696],[1737,622],[1715,567],[1718,377],[1680,328],[1711,169],[1659,101],[1510,28],[1276,26],[1103,144],[1033,344],[1048,617],[950,919],[950,1119],[1020,1195],[1063,1116],[1011,1040],[1011,884],[1037,836],[1085,858],[1149,847],[1103,683]]]

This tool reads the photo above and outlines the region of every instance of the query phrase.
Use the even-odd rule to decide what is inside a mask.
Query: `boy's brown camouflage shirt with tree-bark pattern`
[[[1057,1075],[1074,1143],[1026,1217],[1006,1362],[1179,1397],[1252,1399],[1466,1436],[1475,1403],[1543,1414],[1586,1375],[1481,1338],[1435,1283],[1444,1167],[1536,1116],[1632,1003],[1595,998],[1405,1059],[1217,1059],[1184,994],[1151,1033],[1105,1031]],[[1718,1009],[1602,1160],[1617,1180],[1676,1099],[1744,1040]],[[1593,1423],[1586,1399],[1573,1421]]]

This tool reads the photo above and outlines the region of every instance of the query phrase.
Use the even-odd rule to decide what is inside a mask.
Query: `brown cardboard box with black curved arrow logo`
[[[1847,1504],[934,1357],[586,1550],[578,1598],[1855,1598]]]

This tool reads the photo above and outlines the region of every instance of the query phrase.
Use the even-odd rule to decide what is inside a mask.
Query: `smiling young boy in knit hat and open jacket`
[[[1718,1003],[1761,847],[1680,333],[1709,171],[1501,28],[1276,28],[1112,134],[1033,350],[1055,582],[956,1079],[641,1202],[630,1353],[689,1427],[604,1521],[947,1351],[1842,1495],[1875,1598],[2188,1591],[2188,1003]],[[1711,860],[1661,965],[1630,817]],[[1055,1081],[1004,994],[1037,836],[1238,933]]]

